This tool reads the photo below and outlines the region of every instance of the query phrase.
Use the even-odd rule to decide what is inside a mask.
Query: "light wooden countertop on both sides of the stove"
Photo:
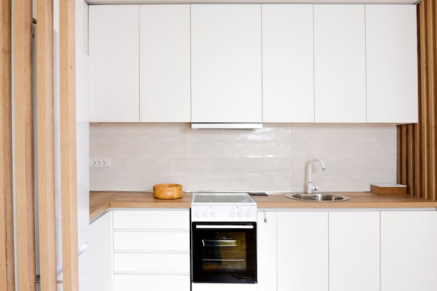
[[[370,192],[336,193],[350,199],[341,202],[299,201],[286,193],[252,196],[258,209],[353,209],[353,208],[436,208],[437,201],[410,195],[377,195]],[[191,193],[175,200],[155,199],[151,192],[98,192],[89,193],[89,218],[92,220],[108,208],[190,208]]]

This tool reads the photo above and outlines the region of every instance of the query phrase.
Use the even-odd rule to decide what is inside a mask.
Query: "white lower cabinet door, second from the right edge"
[[[379,291],[379,251],[379,211],[329,211],[329,291]]]

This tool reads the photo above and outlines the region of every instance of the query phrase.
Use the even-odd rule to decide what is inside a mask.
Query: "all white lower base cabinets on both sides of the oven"
[[[189,210],[90,225],[91,290],[189,291]],[[436,291],[437,211],[258,211],[258,291]]]

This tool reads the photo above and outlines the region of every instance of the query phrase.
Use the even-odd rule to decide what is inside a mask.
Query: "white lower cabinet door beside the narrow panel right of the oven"
[[[278,211],[278,291],[328,290],[328,212]]]

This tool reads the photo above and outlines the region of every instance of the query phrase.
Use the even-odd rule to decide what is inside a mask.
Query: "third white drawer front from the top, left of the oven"
[[[190,274],[190,254],[114,253],[114,272]]]

